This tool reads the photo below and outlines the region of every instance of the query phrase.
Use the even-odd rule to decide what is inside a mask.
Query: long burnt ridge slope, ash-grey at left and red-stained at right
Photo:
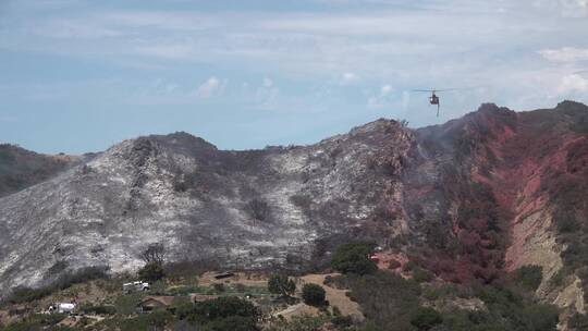
[[[170,261],[309,270],[339,244],[368,238],[444,281],[488,283],[540,266],[539,297],[585,309],[581,103],[527,112],[487,103],[418,130],[382,119],[262,150],[146,136],[41,169],[0,197],[3,295],[89,266],[135,270],[154,243]]]

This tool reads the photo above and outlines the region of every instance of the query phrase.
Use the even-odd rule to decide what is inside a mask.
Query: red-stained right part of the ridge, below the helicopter
[[[449,281],[490,282],[528,263],[553,277],[561,266],[548,260],[561,255],[569,273],[588,275],[588,245],[578,244],[588,222],[588,107],[482,105],[417,133],[404,180],[415,261]],[[561,253],[572,242],[581,252]]]

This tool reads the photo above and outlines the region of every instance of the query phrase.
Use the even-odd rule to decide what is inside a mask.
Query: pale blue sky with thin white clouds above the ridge
[[[0,0],[0,142],[223,149],[588,102],[588,0]],[[441,117],[415,88],[441,95]]]

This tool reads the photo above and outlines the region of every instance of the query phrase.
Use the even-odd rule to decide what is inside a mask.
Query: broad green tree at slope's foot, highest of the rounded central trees
[[[352,242],[339,246],[331,259],[331,267],[342,273],[366,274],[378,270],[378,266],[369,259],[376,244],[369,242]]]

